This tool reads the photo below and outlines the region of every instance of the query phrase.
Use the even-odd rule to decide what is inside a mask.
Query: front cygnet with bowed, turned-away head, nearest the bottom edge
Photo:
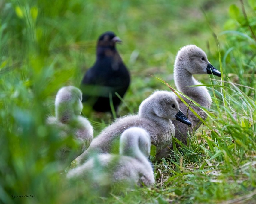
[[[118,154],[99,154],[83,165],[70,170],[69,179],[88,179],[99,188],[118,184],[134,188],[135,185],[154,184],[154,171],[148,160],[150,136],[142,128],[130,127],[120,137]],[[104,189],[101,189],[104,191]]]

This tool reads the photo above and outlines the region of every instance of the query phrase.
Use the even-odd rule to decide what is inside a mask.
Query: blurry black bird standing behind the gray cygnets
[[[120,42],[121,39],[110,31],[99,36],[96,62],[82,80],[83,102],[95,111],[111,112],[111,103],[117,111],[121,101],[115,92],[123,97],[129,87],[129,71],[115,46]]]

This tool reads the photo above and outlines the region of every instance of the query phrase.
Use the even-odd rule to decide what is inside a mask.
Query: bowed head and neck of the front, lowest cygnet
[[[150,146],[151,140],[148,132],[140,127],[130,127],[123,131],[120,137],[120,154],[122,155],[138,156],[139,150],[145,157],[148,157]]]

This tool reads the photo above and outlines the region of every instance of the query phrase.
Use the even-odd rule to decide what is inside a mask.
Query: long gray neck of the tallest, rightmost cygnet
[[[174,82],[179,91],[186,94],[200,105],[209,107],[212,100],[208,90],[205,86],[190,87],[193,85],[200,85],[201,83],[198,82],[192,74],[184,68],[184,66],[175,67]]]

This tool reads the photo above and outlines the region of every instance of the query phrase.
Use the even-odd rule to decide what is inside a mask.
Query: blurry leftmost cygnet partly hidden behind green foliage
[[[55,98],[55,117],[47,118],[47,123],[60,130],[62,138],[72,136],[79,145],[78,150],[68,147],[58,153],[58,159],[70,159],[70,162],[86,150],[93,139],[93,127],[90,122],[81,116],[83,109],[82,92],[74,86],[66,86],[59,89]],[[70,155],[72,154],[72,155]]]

